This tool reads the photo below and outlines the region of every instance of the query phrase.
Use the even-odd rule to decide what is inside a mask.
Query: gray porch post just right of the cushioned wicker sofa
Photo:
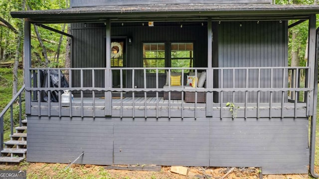
[[[213,32],[212,32],[212,21],[211,18],[207,19],[207,79],[206,87],[208,89],[213,88],[213,70],[212,70],[212,43],[213,43]],[[206,94],[206,116],[213,116],[213,92],[207,92]]]

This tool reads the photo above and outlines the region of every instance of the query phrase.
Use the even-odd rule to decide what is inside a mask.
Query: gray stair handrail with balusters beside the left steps
[[[5,106],[5,108],[0,113],[0,150],[3,150],[3,135],[4,135],[4,114],[10,109],[10,132],[13,134],[13,103],[19,98],[19,126],[21,126],[22,121],[22,99],[21,95],[25,89],[25,85],[23,85],[20,90],[14,95],[11,101]]]

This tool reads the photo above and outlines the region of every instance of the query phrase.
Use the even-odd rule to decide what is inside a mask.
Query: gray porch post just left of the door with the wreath
[[[112,116],[111,20],[106,21],[105,116]]]

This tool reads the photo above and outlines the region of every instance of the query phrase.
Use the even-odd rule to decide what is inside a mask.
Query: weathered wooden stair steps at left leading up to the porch
[[[25,159],[27,120],[22,120],[21,123],[21,127],[15,127],[15,133],[10,135],[10,140],[4,142],[0,163],[19,163]]]

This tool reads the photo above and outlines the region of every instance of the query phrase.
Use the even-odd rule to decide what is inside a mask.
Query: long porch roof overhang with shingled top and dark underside
[[[174,21],[203,20],[274,20],[305,19],[319,13],[319,5],[278,4],[162,4],[73,7],[66,9],[13,11],[14,18],[29,18],[34,23]]]

